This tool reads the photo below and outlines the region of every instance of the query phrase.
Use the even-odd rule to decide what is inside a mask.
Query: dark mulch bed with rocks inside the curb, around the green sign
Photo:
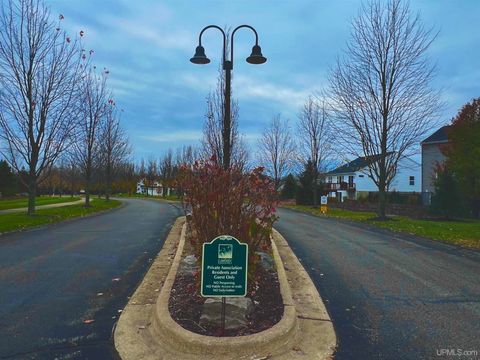
[[[187,227],[187,239],[192,236],[191,228]],[[221,334],[221,300],[200,295],[200,261],[192,242],[185,242],[170,293],[169,311],[172,318],[185,329],[217,336]],[[247,296],[227,299],[225,336],[257,333],[272,327],[282,318],[284,307],[272,248],[268,246],[262,250],[255,254],[259,261],[251,271]]]

